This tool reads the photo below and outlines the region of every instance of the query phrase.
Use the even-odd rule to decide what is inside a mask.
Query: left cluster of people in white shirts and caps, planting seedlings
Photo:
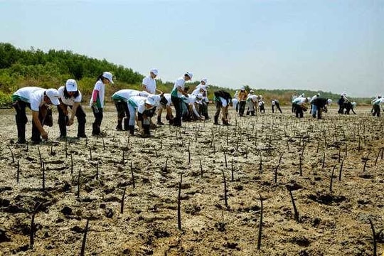
[[[186,72],[174,83],[170,93],[164,93],[156,87],[156,76],[159,71],[150,70],[148,76],[142,80],[142,90],[123,89],[114,92],[112,100],[117,110],[117,127],[119,131],[126,130],[134,134],[135,124],[143,137],[150,136],[151,117],[156,114],[156,124],[162,125],[161,114],[166,111],[166,120],[169,124],[180,127],[181,120],[209,119],[208,116],[208,80],[203,78],[201,83],[188,93],[186,81],[192,80],[193,73]],[[105,85],[113,82],[113,75],[104,72],[97,77],[90,97],[90,107],[95,117],[92,123],[92,135],[105,135],[100,127],[105,109]],[[157,94],[156,94],[157,93]],[[73,79],[68,79],[65,85],[58,89],[43,89],[40,87],[22,87],[12,95],[13,107],[16,110],[16,125],[18,143],[26,143],[26,108],[32,110],[32,137],[33,144],[39,144],[42,139],[48,139],[48,132],[44,125],[52,126],[53,117],[50,105],[57,106],[60,139],[67,137],[67,126],[73,124],[75,117],[78,119],[78,138],[85,138],[86,114],[80,102],[82,94],[78,84]],[[171,104],[175,108],[172,114]],[[69,110],[71,110],[69,112]]]

